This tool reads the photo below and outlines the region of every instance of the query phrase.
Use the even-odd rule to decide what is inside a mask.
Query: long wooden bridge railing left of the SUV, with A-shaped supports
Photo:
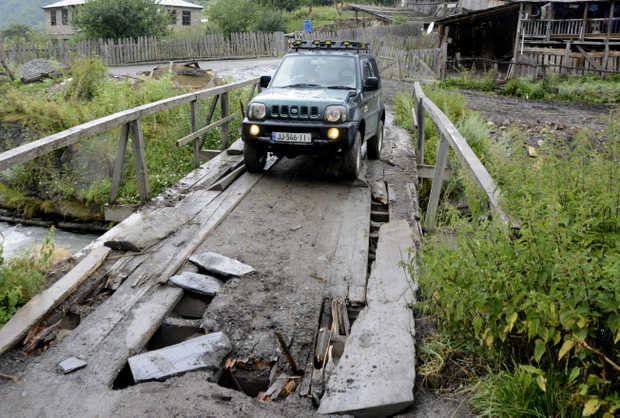
[[[48,154],[57,149],[74,144],[80,140],[91,138],[110,129],[122,126],[120,141],[118,144],[118,154],[116,156],[116,161],[114,163],[114,170],[112,174],[112,186],[110,189],[109,202],[115,203],[118,197],[118,191],[122,180],[121,174],[123,172],[123,165],[125,163],[125,151],[127,149],[127,142],[129,138],[131,138],[133,147],[140,201],[145,202],[150,199],[150,193],[141,119],[144,116],[189,103],[191,108],[192,132],[189,135],[177,140],[177,146],[183,146],[192,142],[194,147],[194,167],[198,167],[200,165],[200,161],[208,160],[211,156],[209,153],[202,149],[206,133],[212,129],[221,126],[222,149],[224,150],[229,146],[229,122],[232,119],[242,115],[242,112],[236,112],[233,114],[228,113],[228,94],[231,91],[252,86],[248,98],[249,101],[250,98],[252,98],[252,96],[254,95],[254,92],[257,91],[259,81],[260,78],[256,77],[237,83],[227,84],[225,86],[182,94],[179,96],[159,100],[157,102],[134,107],[132,109],[124,110],[122,112],[117,112],[103,118],[95,119],[93,121],[74,126],[65,131],[58,132],[54,135],[41,138],[39,140],[21,145],[19,147],[1,153],[0,171],[4,171],[17,164],[22,164],[27,161],[33,160],[37,157]],[[260,89],[260,87],[258,88]],[[206,117],[205,126],[203,128],[199,128],[198,100],[205,100],[210,98],[213,100],[211,101],[211,108]],[[221,119],[213,122],[212,119],[215,114],[215,110],[217,109],[218,101],[220,102],[221,106]]]

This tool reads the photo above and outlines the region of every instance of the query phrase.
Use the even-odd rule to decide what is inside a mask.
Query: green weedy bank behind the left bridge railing
[[[139,82],[107,77],[98,58],[82,58],[67,74],[64,85],[2,88],[0,119],[10,127],[36,127],[47,136],[109,114],[176,96],[188,91],[172,78]],[[247,91],[230,94],[230,103],[247,99]],[[200,101],[198,114],[209,112],[209,101]],[[214,117],[219,118],[220,109]],[[191,146],[175,141],[191,132],[189,106],[179,106],[142,118],[149,186],[152,196],[193,169]],[[230,138],[237,139],[241,118],[230,123]],[[16,166],[2,173],[0,204],[26,216],[36,214],[92,220],[101,217],[110,194],[120,128],[80,141],[70,147]],[[36,138],[29,138],[30,140]],[[221,147],[221,130],[207,134],[205,147]],[[138,203],[138,187],[131,147],[128,147],[119,202]]]

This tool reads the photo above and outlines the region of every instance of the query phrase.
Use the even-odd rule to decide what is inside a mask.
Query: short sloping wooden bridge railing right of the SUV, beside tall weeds
[[[429,172],[422,177],[432,178],[431,194],[426,209],[424,226],[432,229],[435,225],[437,207],[441,186],[444,180],[446,165],[448,162],[448,149],[452,148],[456,156],[463,163],[463,166],[473,176],[478,186],[486,194],[489,207],[493,217],[499,220],[506,228],[519,229],[518,222],[511,220],[510,216],[500,207],[500,189],[484,167],[480,159],[470,148],[465,138],[456,129],[448,117],[433,103],[422,91],[419,82],[414,85],[415,108],[413,112],[414,129],[417,131],[416,143],[416,163],[419,169]],[[439,148],[437,151],[437,161],[435,166],[424,165],[424,114],[428,112],[439,133]]]

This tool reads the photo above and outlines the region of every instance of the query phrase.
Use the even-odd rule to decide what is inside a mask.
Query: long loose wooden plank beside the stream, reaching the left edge
[[[15,345],[45,315],[58,306],[105,260],[109,248],[100,246],[88,254],[63,278],[36,295],[0,329],[0,355]]]

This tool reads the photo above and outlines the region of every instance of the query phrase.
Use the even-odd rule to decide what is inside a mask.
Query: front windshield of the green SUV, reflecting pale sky
[[[353,57],[290,55],[280,64],[271,87],[355,89],[355,71]]]

